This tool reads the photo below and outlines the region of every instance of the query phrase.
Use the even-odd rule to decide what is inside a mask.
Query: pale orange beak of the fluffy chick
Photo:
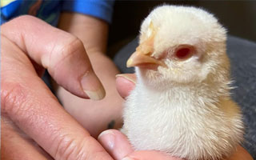
[[[154,66],[154,68],[155,66],[166,66],[164,62],[151,56],[153,50],[154,49],[152,45],[149,46],[145,43],[142,43],[136,48],[134,54],[130,56],[130,58],[126,62],[126,66],[142,66],[149,69],[152,68],[152,66]]]

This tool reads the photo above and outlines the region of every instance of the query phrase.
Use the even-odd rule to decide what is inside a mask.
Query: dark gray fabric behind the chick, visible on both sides
[[[126,68],[126,60],[138,46],[138,38],[130,42],[114,57],[114,62],[122,73],[134,73]],[[256,43],[242,38],[228,37],[227,54],[231,62],[231,76],[236,88],[232,97],[242,108],[246,125],[243,146],[256,158]]]

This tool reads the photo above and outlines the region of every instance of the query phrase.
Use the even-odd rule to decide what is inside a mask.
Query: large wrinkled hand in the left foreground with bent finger
[[[112,159],[40,78],[46,68],[71,93],[103,98],[82,42],[31,16],[1,31],[1,158]]]

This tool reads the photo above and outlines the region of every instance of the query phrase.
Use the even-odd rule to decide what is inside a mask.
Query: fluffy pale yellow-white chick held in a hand
[[[243,123],[230,98],[225,28],[202,9],[158,6],[142,22],[139,38],[127,61],[138,82],[122,128],[134,148],[189,160],[232,154]]]

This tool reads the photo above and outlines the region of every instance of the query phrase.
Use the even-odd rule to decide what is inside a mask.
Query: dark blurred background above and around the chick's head
[[[112,57],[138,35],[144,18],[162,4],[198,6],[213,13],[228,34],[256,42],[256,1],[116,1],[110,26],[109,53]]]

